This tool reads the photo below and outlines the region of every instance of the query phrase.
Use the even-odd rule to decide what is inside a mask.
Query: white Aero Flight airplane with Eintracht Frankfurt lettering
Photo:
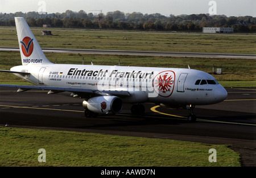
[[[123,103],[133,104],[131,113],[143,114],[145,102],[167,107],[185,106],[195,121],[195,105],[224,101],[226,90],[208,73],[193,69],[53,64],[44,55],[26,20],[15,18],[22,65],[10,72],[35,84],[0,85],[49,90],[48,94],[71,93],[84,98],[86,117],[120,113]]]

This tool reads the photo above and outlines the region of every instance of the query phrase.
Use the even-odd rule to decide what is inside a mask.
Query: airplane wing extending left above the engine
[[[5,84],[1,84],[0,87],[18,88],[17,92],[25,92],[30,89],[49,90],[48,94],[59,93],[59,92],[72,92],[81,97],[84,97],[88,94],[95,94],[100,96],[121,96],[121,97],[130,96],[130,93],[127,91],[117,91],[117,90],[91,90],[91,89],[82,89],[82,88],[56,87],[56,86],[5,85]]]

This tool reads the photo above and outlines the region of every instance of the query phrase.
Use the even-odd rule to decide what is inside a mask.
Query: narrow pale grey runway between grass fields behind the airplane
[[[211,57],[232,59],[256,59],[253,54],[236,53],[200,53],[200,52],[160,52],[160,51],[124,51],[105,49],[67,49],[67,48],[42,48],[43,52],[81,53],[98,55],[135,55],[135,56],[169,56],[169,57]],[[0,47],[0,51],[19,51],[18,47]]]

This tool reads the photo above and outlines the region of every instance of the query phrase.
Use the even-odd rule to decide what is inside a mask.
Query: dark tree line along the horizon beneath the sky
[[[225,16],[209,14],[170,15],[159,13],[106,14],[67,10],[65,13],[40,14],[38,12],[0,13],[0,26],[15,26],[14,17],[23,16],[31,27],[100,28],[126,30],[202,31],[203,27],[233,27],[234,32],[256,32],[256,18],[253,16]]]

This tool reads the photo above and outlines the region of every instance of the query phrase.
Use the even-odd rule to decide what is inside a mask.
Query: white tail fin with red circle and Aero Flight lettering
[[[22,65],[52,64],[44,55],[38,41],[23,17],[15,17]]]

